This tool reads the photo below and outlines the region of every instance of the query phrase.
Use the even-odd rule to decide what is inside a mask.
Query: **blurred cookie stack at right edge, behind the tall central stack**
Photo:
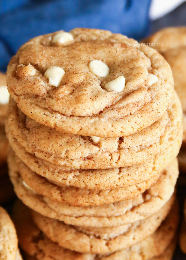
[[[181,172],[186,172],[186,27],[168,27],[145,40],[158,48],[170,64],[174,88],[183,108],[183,143],[178,155]]]

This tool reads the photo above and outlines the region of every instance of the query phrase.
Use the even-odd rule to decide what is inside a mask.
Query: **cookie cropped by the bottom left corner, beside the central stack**
[[[15,260],[18,250],[16,230],[5,209],[0,207],[0,259]]]

